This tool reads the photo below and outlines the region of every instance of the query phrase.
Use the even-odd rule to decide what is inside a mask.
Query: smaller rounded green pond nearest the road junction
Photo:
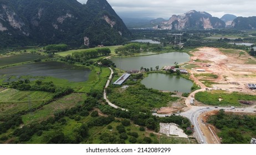
[[[147,88],[165,91],[191,92],[193,82],[182,77],[152,73],[141,81]]]

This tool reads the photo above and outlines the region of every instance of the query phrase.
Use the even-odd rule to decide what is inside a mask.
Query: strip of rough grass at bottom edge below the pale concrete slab
[[[197,144],[194,138],[160,136],[160,144]]]

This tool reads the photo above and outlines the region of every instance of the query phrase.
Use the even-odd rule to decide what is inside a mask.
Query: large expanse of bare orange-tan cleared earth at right
[[[217,48],[205,47],[192,51],[191,54],[193,56],[191,56],[191,61],[188,64],[200,66],[190,70],[191,78],[199,85],[202,85],[199,80],[205,79],[205,77],[194,77],[193,75],[215,74],[218,75],[217,79],[209,79],[214,82],[214,89],[240,91],[256,95],[255,91],[249,90],[245,86],[248,83],[256,83],[256,65],[247,64],[248,60],[256,60],[245,51],[226,49],[221,51]],[[205,69],[206,72],[198,72],[196,69]]]

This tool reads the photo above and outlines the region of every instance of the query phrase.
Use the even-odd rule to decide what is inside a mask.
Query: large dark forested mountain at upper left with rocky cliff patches
[[[130,35],[106,0],[0,0],[0,47],[115,45]]]

